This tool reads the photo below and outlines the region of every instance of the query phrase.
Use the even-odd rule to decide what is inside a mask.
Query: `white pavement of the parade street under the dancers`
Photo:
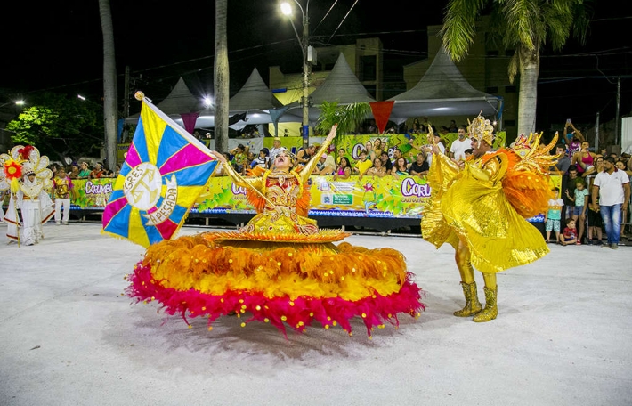
[[[426,292],[417,320],[366,336],[221,318],[212,331],[121,296],[144,249],[100,224],[45,226],[34,247],[0,225],[0,405],[629,405],[632,247],[552,246],[498,275],[498,319],[474,323],[454,251],[400,249]],[[182,233],[208,231],[185,227]],[[482,279],[477,273],[479,294]]]

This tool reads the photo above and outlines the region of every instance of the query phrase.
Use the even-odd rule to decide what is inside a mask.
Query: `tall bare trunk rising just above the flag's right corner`
[[[228,150],[228,100],[230,76],[228,68],[228,40],[226,14],[228,0],[215,0],[215,150]]]

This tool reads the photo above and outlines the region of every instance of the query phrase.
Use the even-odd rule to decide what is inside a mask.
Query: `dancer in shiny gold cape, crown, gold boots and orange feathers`
[[[463,169],[433,146],[428,175],[432,194],[423,211],[422,235],[437,248],[455,248],[466,306],[454,313],[490,321],[498,315],[496,273],[530,264],[549,249],[542,234],[525,220],[547,210],[552,196],[547,169],[557,156],[553,142],[539,145],[539,134],[521,135],[510,149],[491,151],[493,126],[474,118],[473,156]],[[474,268],[482,272],[485,308],[478,300]]]

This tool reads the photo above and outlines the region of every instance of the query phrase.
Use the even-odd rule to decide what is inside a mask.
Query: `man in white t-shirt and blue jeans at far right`
[[[619,248],[621,234],[621,207],[628,207],[630,201],[630,180],[625,172],[614,166],[614,159],[604,159],[604,171],[595,176],[592,191],[592,205],[597,207],[599,196],[599,212],[608,237],[608,246]]]

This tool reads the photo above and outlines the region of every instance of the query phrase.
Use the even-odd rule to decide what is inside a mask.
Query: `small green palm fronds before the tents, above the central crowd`
[[[332,126],[338,125],[338,135],[350,134],[365,118],[369,117],[371,105],[367,102],[338,106],[338,102],[323,102],[316,129],[328,134]]]

